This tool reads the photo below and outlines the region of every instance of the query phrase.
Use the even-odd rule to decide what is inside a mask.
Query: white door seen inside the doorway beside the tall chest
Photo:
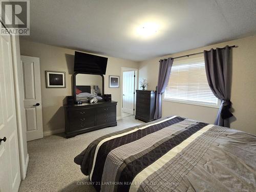
[[[123,112],[134,115],[135,71],[123,72]]]

